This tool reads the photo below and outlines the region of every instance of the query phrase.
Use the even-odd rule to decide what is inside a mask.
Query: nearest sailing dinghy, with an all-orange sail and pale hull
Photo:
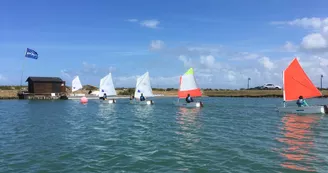
[[[304,72],[297,58],[294,58],[283,72],[283,83],[284,107],[279,107],[279,112],[308,114],[327,113],[328,109],[326,105],[298,107],[296,103],[294,103],[295,106],[286,106],[287,101],[296,101],[299,96],[303,96],[304,99],[322,96],[322,93]]]

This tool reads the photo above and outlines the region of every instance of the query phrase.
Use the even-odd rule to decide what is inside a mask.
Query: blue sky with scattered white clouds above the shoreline
[[[201,88],[282,86],[297,57],[313,83],[328,87],[328,1],[2,0],[0,85],[28,76],[134,87],[178,88],[194,68]],[[25,58],[26,48],[39,59]],[[327,76],[327,80],[325,77]],[[327,81],[327,82],[326,82]]]

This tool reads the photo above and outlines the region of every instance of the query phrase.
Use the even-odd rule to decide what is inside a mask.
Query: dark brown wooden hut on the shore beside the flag
[[[33,94],[51,94],[66,92],[65,81],[59,77],[28,77],[28,92]]]

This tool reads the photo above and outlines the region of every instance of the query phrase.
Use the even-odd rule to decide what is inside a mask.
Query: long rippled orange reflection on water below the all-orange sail
[[[287,147],[283,148],[280,153],[287,159],[281,164],[282,167],[302,171],[315,171],[310,166],[310,163],[316,158],[311,156],[310,150],[314,147],[312,127],[319,119],[318,115],[300,116],[296,114],[286,114],[282,118],[284,137],[278,140],[287,144]]]

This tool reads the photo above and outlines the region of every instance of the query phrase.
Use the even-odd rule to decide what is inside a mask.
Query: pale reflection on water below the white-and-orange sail
[[[194,144],[200,141],[200,136],[197,135],[198,130],[201,127],[201,124],[197,120],[200,115],[200,109],[180,107],[177,114],[177,123],[179,124],[180,129],[176,133],[183,137],[180,142],[186,147],[193,147]]]

